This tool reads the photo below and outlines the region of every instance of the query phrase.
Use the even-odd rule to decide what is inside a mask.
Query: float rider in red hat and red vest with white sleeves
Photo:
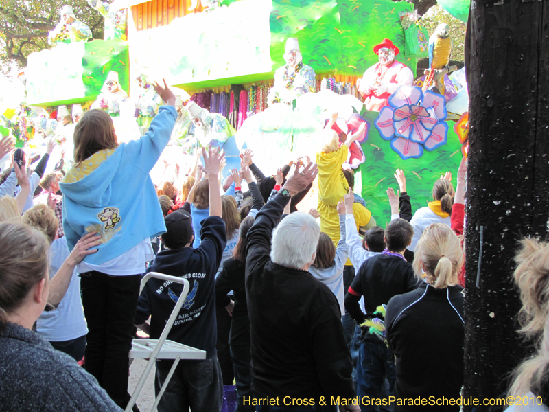
[[[364,98],[366,110],[380,111],[388,106],[388,98],[399,86],[412,86],[414,75],[407,66],[395,60],[399,48],[388,38],[373,48],[379,62],[364,73],[362,79],[356,82],[360,95]]]

